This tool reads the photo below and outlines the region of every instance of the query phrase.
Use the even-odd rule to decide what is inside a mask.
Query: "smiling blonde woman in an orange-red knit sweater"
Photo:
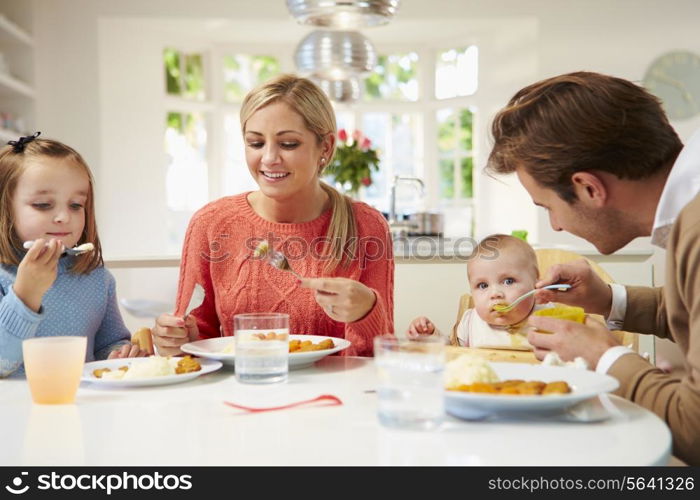
[[[373,338],[393,332],[391,237],[378,211],[321,181],[336,146],[328,98],[310,80],[282,75],[246,96],[240,118],[259,190],[192,217],[175,314],[153,329],[159,353],[232,335],[234,314],[275,311],[290,315],[291,333],[346,338],[345,355],[371,356]],[[263,240],[305,279],[255,258]],[[183,317],[197,283],[204,303]]]

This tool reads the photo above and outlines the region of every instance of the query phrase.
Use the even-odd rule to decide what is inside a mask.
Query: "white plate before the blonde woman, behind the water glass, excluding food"
[[[290,335],[289,340],[310,340],[314,344],[318,344],[322,340],[332,339],[335,347],[333,349],[324,349],[322,351],[308,352],[290,352],[289,353],[289,368],[303,368],[311,366],[316,361],[325,358],[329,354],[342,351],[350,347],[352,342],[337,337],[324,337],[323,335]],[[233,344],[233,337],[216,337],[213,339],[197,340],[183,345],[180,349],[188,354],[201,356],[203,358],[215,359],[221,361],[225,365],[234,365],[235,355],[233,352],[222,352],[226,347]]]

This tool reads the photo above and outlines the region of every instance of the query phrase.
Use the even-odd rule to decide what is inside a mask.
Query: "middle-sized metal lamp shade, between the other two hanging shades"
[[[294,58],[300,72],[323,80],[368,73],[377,64],[374,45],[357,31],[312,31],[299,42]]]

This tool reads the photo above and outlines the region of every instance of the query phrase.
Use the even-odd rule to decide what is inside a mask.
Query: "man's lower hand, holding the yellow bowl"
[[[552,333],[531,331],[527,340],[535,349],[537,359],[543,359],[550,352],[556,352],[564,361],[572,361],[581,356],[588,366],[595,370],[600,357],[620,343],[615,339],[606,326],[590,316],[585,324],[565,319],[530,316],[528,323],[538,330]]]

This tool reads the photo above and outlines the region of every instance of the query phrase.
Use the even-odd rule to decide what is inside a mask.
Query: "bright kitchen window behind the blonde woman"
[[[287,61],[289,59],[289,61]],[[395,175],[419,177],[397,190],[397,212],[441,210],[472,229],[476,46],[379,56],[362,99],[335,104],[338,128],[361,130],[380,150],[380,171],[360,198],[389,211]],[[286,62],[283,62],[286,61]],[[245,163],[240,104],[259,83],[293,72],[289,54],[166,48],[165,152],[168,250],[179,252],[189,217],[207,201],[256,189]]]

